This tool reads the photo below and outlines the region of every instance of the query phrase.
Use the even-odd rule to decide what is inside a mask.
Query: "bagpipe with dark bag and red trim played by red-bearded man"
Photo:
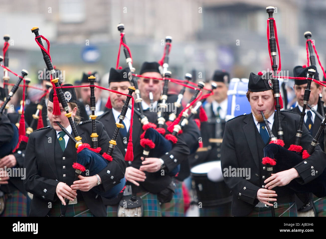
[[[268,133],[270,135],[270,142],[267,146],[264,147],[264,157],[262,159],[262,164],[266,165],[266,170],[268,171],[268,174],[271,175],[272,172],[281,172],[284,170],[288,170],[300,163],[307,163],[305,159],[307,159],[314,151],[318,144],[318,139],[320,136],[320,133],[322,132],[323,128],[325,127],[325,120],[321,123],[321,126],[319,128],[319,131],[317,135],[312,140],[309,148],[307,150],[303,150],[303,147],[300,145],[301,143],[301,137],[303,134],[303,123],[304,123],[304,115],[305,115],[305,108],[309,101],[310,96],[310,85],[311,82],[314,81],[317,84],[319,84],[316,80],[314,80],[314,75],[316,73],[316,67],[310,66],[308,68],[308,77],[282,77],[282,78],[291,78],[291,79],[301,79],[301,80],[308,80],[307,87],[305,89],[304,93],[304,106],[303,111],[300,114],[300,121],[298,124],[297,132],[295,135],[295,143],[290,145],[289,149],[284,148],[283,146],[283,129],[281,126],[281,115],[279,108],[280,102],[282,102],[279,94],[279,83],[277,80],[277,74],[279,73],[281,69],[281,61],[279,56],[279,68],[277,69],[275,57],[276,57],[276,45],[277,49],[280,55],[279,46],[278,46],[278,39],[277,39],[277,32],[276,32],[276,24],[275,20],[273,18],[273,12],[274,7],[267,7],[266,11],[269,14],[269,28],[270,31],[267,31],[267,35],[269,37],[269,44],[268,49],[271,55],[271,63],[273,68],[273,90],[274,90],[274,97],[275,97],[275,109],[277,114],[277,133],[278,133],[278,139],[274,137],[271,129],[269,128],[268,121],[264,118],[266,128],[268,130]],[[274,32],[275,30],[275,32]],[[276,37],[276,38],[275,38]],[[307,40],[308,41],[308,40]],[[281,76],[280,76],[281,77]],[[262,112],[261,112],[262,113]],[[263,115],[263,113],[262,113]],[[303,162],[304,161],[304,162]],[[311,167],[314,168],[313,166]],[[319,176],[318,176],[319,175]],[[316,179],[313,179],[312,181],[306,183],[306,184],[300,184],[297,180],[292,180],[287,186],[294,190],[295,192],[299,193],[314,193],[318,197],[324,197],[326,195],[326,170],[323,172],[316,173]]]

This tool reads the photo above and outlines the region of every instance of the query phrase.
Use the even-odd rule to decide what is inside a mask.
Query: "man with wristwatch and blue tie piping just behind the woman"
[[[122,70],[115,70],[111,68],[109,76],[109,89],[126,93],[130,82],[128,79],[129,69],[125,68]],[[105,130],[109,135],[113,134],[114,129],[111,127],[112,124],[119,122],[119,115],[124,105],[126,98],[122,95],[109,92],[112,109],[101,115],[98,120],[103,123]],[[157,114],[151,112],[149,109],[144,110],[144,115],[147,117],[149,122],[156,123]],[[120,129],[117,147],[120,151],[125,154],[127,151],[127,144],[130,137],[130,125],[131,125],[131,111],[130,109],[126,112],[126,117],[122,121],[124,125]],[[141,144],[141,138],[146,136],[144,128],[146,124],[142,124],[139,116],[134,113],[133,125],[132,125],[132,142],[133,142],[133,156],[134,160],[126,162],[126,180],[127,188],[124,190],[124,195],[130,195],[131,193],[137,193],[137,197],[141,198],[143,204],[142,216],[162,216],[162,207],[164,203],[163,196],[170,197],[165,199],[168,202],[172,198],[173,193],[173,182],[170,172],[182,162],[189,154],[188,146],[181,139],[173,145],[172,150],[167,150],[165,147],[169,145],[163,140],[161,144],[155,145],[145,159],[141,159],[143,156],[143,146]],[[154,125],[154,124],[148,124]],[[155,126],[155,125],[154,125]],[[151,128],[153,129],[153,128]],[[146,131],[147,133],[147,131]],[[161,138],[163,138],[158,132],[156,132]],[[146,137],[145,137],[146,139]],[[166,152],[166,154],[159,154],[158,152]],[[155,156],[152,156],[155,155]],[[130,192],[130,190],[132,192]],[[168,193],[168,195],[163,194]],[[107,206],[108,216],[117,215],[117,207],[121,195],[117,199],[105,200]],[[122,200],[123,202],[123,200]],[[120,203],[122,205],[122,203]],[[125,213],[123,211],[123,213]],[[138,215],[141,213],[138,211]],[[119,216],[121,216],[119,214]]]

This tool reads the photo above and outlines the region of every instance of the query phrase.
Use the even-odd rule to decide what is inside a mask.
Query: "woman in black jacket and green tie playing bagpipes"
[[[54,95],[52,89],[47,105],[51,127],[34,131],[28,139],[24,160],[27,176],[24,185],[26,191],[34,195],[29,216],[59,216],[66,205],[65,198],[70,200],[66,216],[106,216],[106,208],[101,196],[93,189],[96,187],[98,191],[107,192],[121,183],[126,167],[123,156],[118,149],[114,149],[113,160],[103,170],[94,176],[88,176],[86,170],[78,176],[79,180],[74,180],[75,169],[72,165],[77,159],[75,142],[67,136],[65,131],[62,131],[57,123],[60,123],[71,134],[73,129],[68,120],[68,117],[71,117],[75,123],[79,123],[75,127],[78,135],[82,137],[82,142],[88,144],[92,144],[90,137],[92,124],[90,124],[91,120],[79,122],[75,90],[62,88],[62,91],[69,106],[69,113],[66,114],[61,100],[58,99],[60,114],[52,114],[56,110],[55,103],[57,103],[53,103],[57,100],[55,99],[57,96]],[[98,147],[101,147],[99,153],[102,155],[109,146],[110,138],[99,122],[96,123],[96,133]]]

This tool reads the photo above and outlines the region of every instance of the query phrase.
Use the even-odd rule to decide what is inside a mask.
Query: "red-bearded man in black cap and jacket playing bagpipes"
[[[251,113],[240,115],[229,120],[221,151],[221,165],[226,184],[232,191],[233,216],[271,216],[274,207],[275,216],[297,216],[295,191],[287,186],[291,181],[306,184],[313,179],[311,168],[322,172],[326,166],[326,154],[319,145],[314,153],[296,166],[273,174],[271,177],[262,164],[263,148],[267,145],[270,135],[263,123],[261,111],[268,120],[268,125],[274,135],[277,135],[277,116],[273,96],[272,73],[256,75],[250,73],[247,98]],[[297,128],[300,121],[298,114],[281,111],[284,148],[294,145]],[[302,128],[301,146],[308,149],[312,137],[305,126]],[[282,164],[278,159],[276,164]],[[228,170],[236,170],[234,174]],[[248,177],[239,175],[241,169],[250,169]]]

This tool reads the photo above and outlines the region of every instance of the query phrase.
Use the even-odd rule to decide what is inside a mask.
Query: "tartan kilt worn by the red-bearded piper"
[[[293,205],[294,204],[294,205]],[[293,205],[293,206],[291,206]],[[291,208],[287,210],[289,207]],[[277,208],[275,210],[275,217],[297,217],[297,205],[295,203],[279,203],[277,204]],[[272,217],[271,207],[254,207],[251,213],[249,213],[246,217]]]

